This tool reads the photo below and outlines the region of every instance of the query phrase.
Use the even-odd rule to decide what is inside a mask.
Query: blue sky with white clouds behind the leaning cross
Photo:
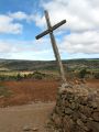
[[[36,41],[46,30],[44,10],[63,59],[99,58],[99,0],[0,0],[0,58],[55,59],[50,36]]]

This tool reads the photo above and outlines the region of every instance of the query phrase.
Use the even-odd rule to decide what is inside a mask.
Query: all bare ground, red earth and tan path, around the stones
[[[98,79],[86,84],[99,88]],[[6,107],[0,108],[0,132],[23,132],[26,129],[29,132],[47,132],[45,122],[55,106],[59,81],[2,81],[0,85],[12,91],[10,97],[0,98],[0,107]]]

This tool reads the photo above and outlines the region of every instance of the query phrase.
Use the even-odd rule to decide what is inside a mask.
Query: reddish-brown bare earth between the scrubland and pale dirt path
[[[88,87],[99,88],[98,79],[87,80]],[[31,103],[35,101],[54,101],[56,99],[59,81],[56,80],[21,80],[2,81],[1,86],[8,88],[12,95],[0,98],[0,107]]]

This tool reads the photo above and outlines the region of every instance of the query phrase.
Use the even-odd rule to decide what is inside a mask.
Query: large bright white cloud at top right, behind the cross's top
[[[43,1],[43,8],[48,10],[53,24],[66,19],[67,24],[63,28],[74,32],[84,32],[99,28],[99,2],[97,8],[94,0],[51,0]],[[43,18],[41,18],[43,21]]]

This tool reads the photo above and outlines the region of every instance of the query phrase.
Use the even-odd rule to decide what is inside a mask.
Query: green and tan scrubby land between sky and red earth
[[[79,77],[86,68],[85,77],[98,78],[99,58],[63,61],[66,76]],[[1,61],[0,80],[43,79],[59,77],[56,61]],[[37,72],[37,73],[36,73]],[[45,74],[45,75],[44,75]],[[82,73],[81,73],[82,74]]]

